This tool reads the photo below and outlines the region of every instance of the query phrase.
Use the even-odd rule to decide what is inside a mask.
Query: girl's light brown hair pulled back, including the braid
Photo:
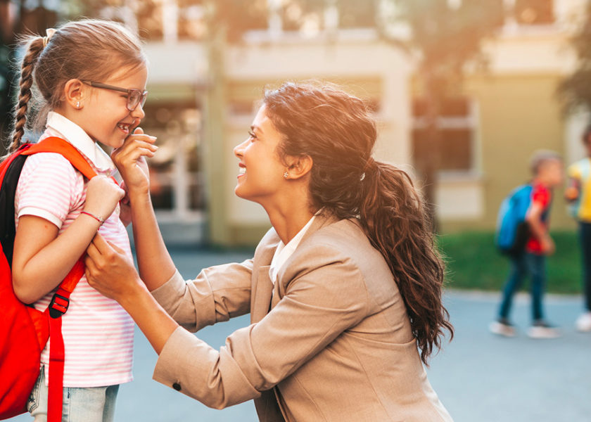
[[[45,119],[40,117],[61,105],[63,89],[70,79],[101,82],[118,69],[133,71],[147,63],[139,38],[123,25],[108,20],[66,23],[51,37],[30,35],[21,42],[25,44],[25,54],[20,63],[18,103],[8,153],[20,146],[31,99],[39,101],[37,123],[44,124]],[[33,98],[33,82],[39,98]]]

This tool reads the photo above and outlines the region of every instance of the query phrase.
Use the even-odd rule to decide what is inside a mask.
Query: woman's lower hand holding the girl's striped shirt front
[[[89,245],[84,263],[89,285],[107,298],[121,303],[146,289],[132,260],[100,234]]]

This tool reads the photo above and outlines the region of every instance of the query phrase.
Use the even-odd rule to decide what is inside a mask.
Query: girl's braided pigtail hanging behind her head
[[[37,64],[37,59],[44,49],[43,37],[32,38],[27,46],[27,52],[23,58],[20,70],[18,103],[15,109],[14,132],[11,145],[8,147],[8,153],[18,149],[20,141],[25,134],[27,124],[27,110],[29,101],[32,97],[33,71]]]

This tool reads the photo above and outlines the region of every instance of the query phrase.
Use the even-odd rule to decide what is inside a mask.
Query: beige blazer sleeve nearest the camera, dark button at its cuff
[[[265,318],[229,335],[220,351],[177,328],[155,381],[222,409],[260,396],[362,321],[367,290],[352,260],[322,245],[298,255],[284,297]]]

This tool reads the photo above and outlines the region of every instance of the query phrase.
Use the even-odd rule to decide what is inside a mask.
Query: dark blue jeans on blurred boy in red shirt
[[[533,319],[544,319],[542,296],[546,283],[546,257],[533,253],[523,253],[511,258],[511,271],[503,288],[503,298],[499,309],[500,318],[509,318],[511,302],[523,279],[531,275],[531,304]]]

